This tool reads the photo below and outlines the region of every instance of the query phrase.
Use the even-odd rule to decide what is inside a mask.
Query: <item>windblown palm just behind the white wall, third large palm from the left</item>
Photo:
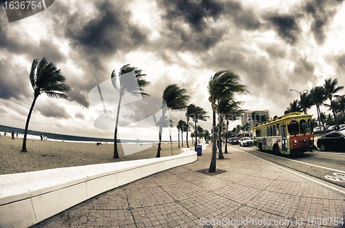
[[[181,111],[185,110],[187,107],[187,102],[190,99],[190,96],[185,95],[186,90],[181,89],[177,84],[168,85],[163,92],[163,103],[162,103],[162,114],[161,119],[164,119],[164,115],[166,111]],[[161,132],[162,126],[159,125],[159,143],[157,149],[157,156],[159,158],[161,156]]]

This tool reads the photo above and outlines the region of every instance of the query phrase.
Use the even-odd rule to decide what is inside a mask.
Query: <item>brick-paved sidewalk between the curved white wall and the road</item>
[[[228,151],[217,159],[221,174],[197,172],[210,165],[209,146],[195,163],[118,187],[34,227],[342,227],[336,223],[345,222],[344,196]],[[312,225],[320,222],[327,225]]]

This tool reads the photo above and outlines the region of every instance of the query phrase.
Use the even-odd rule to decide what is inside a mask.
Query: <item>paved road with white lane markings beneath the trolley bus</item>
[[[273,152],[259,152],[257,147],[240,147],[237,145],[233,147],[278,165],[345,187],[345,152],[315,151],[295,156],[285,154],[275,156]]]

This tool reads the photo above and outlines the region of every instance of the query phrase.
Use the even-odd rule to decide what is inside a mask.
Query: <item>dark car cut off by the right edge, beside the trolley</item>
[[[340,150],[345,152],[345,130],[334,131],[317,138],[317,147],[325,150]]]

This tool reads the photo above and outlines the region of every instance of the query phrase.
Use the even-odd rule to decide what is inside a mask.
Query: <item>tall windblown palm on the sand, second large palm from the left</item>
[[[128,74],[134,72],[135,76]],[[130,64],[124,65],[119,72],[119,75],[112,71],[111,81],[112,86],[115,90],[119,92],[119,103],[117,105],[117,116],[115,123],[115,134],[114,134],[114,158],[119,158],[119,152],[117,151],[117,125],[119,125],[119,113],[121,107],[121,99],[124,94],[128,93],[132,96],[149,96],[149,94],[144,93],[144,87],[149,85],[150,82],[144,79],[146,74],[141,74],[141,70],[135,67],[131,67]]]

